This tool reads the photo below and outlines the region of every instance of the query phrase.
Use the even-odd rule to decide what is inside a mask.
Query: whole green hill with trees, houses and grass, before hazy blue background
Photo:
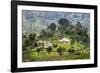
[[[22,33],[22,61],[61,61],[90,58],[90,32],[67,18],[48,24],[39,34]]]

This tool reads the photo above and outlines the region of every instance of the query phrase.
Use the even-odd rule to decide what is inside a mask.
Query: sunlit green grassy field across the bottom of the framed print
[[[83,48],[84,46],[80,43],[75,42],[72,45],[60,43],[57,40],[53,40],[52,43],[56,44],[56,47],[52,48],[50,53],[48,53],[45,48],[42,48],[40,52],[37,52],[37,49],[40,48],[40,46],[23,51],[23,62],[78,60],[90,58],[90,49]],[[57,52],[59,47],[63,48],[61,51],[62,55]]]

